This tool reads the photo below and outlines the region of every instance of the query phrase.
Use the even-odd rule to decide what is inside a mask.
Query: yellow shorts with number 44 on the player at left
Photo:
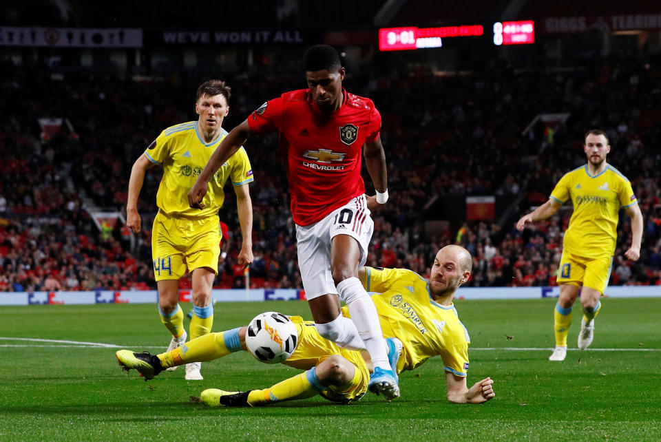
[[[151,230],[154,279],[178,280],[187,271],[209,267],[218,275],[220,220],[174,218],[158,211]]]

